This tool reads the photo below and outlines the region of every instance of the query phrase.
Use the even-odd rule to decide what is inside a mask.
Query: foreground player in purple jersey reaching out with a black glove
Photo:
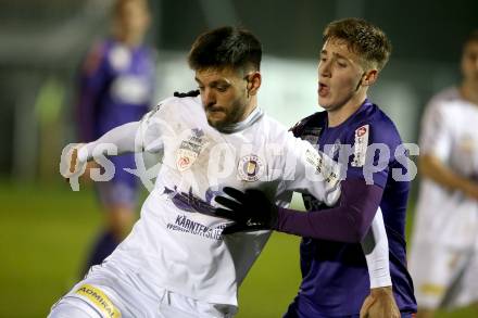
[[[364,20],[345,18],[325,28],[317,91],[325,111],[300,120],[292,131],[348,166],[336,207],[327,208],[310,195],[303,195],[309,213],[277,207],[256,192],[229,190],[235,201],[217,198],[227,207],[217,214],[237,222],[229,232],[273,228],[303,237],[303,279],[285,317],[382,318],[416,313],[404,236],[410,182],[392,177],[392,173],[406,175],[410,162],[393,122],[367,99],[390,52],[385,33]],[[390,155],[376,153],[375,145]],[[389,241],[392,287],[370,291],[360,242],[373,240],[365,234],[378,209]]]

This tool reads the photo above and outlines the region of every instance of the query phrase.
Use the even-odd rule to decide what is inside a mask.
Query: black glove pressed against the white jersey
[[[229,187],[224,188],[224,192],[234,200],[217,195],[215,201],[227,208],[217,207],[215,215],[235,224],[226,227],[223,234],[272,229],[277,224],[278,207],[264,192],[254,189],[242,192]]]

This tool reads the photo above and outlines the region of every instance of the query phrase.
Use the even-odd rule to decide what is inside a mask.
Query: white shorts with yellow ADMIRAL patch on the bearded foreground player
[[[204,303],[167,290],[158,294],[140,281],[126,281],[120,272],[95,269],[98,266],[53,305],[49,318],[228,318],[236,311],[229,305]]]

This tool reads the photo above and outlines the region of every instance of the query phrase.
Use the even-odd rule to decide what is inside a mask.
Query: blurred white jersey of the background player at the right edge
[[[478,181],[478,105],[456,88],[437,94],[422,124],[420,154],[439,158],[456,174]],[[422,180],[415,240],[452,247],[478,238],[478,202],[429,179]]]

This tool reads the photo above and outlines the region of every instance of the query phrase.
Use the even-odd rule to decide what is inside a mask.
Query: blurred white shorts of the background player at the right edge
[[[478,301],[478,251],[413,243],[408,269],[418,307],[462,307]]]

